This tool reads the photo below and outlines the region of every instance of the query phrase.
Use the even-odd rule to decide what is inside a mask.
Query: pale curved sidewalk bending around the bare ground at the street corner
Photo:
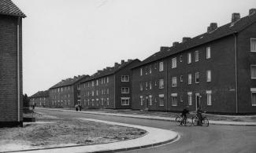
[[[25,151],[30,153],[41,153],[41,152],[54,152],[54,153],[69,153],[69,152],[116,152],[116,151],[129,151],[139,148],[150,148],[161,144],[167,144],[174,142],[180,138],[178,133],[175,133],[171,130],[167,129],[158,129],[151,128],[147,126],[135,126],[130,124],[124,124],[119,122],[107,122],[96,119],[87,119],[87,118],[78,118],[82,120],[89,120],[94,122],[104,122],[106,124],[112,124],[117,126],[128,126],[137,129],[144,129],[147,131],[147,134],[143,137],[139,137],[132,140],[121,140],[114,143],[109,144],[95,144],[95,145],[87,145],[87,146],[79,146],[79,147],[70,147],[70,148],[50,148],[50,149],[39,149],[39,150],[31,150]],[[24,151],[20,151],[24,152]]]

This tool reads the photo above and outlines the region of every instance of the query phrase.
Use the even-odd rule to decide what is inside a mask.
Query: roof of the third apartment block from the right
[[[62,86],[71,86],[76,82],[79,82],[82,79],[88,78],[89,75],[78,75],[75,76],[74,78],[66,78],[64,80],[61,80],[61,82],[58,82],[56,85],[50,87],[50,89],[62,87]]]

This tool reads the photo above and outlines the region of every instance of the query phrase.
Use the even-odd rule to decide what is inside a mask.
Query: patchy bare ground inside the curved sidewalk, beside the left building
[[[47,122],[47,124],[26,123],[23,128],[0,129],[0,151],[13,151],[13,145],[10,144],[16,144],[18,150],[102,144],[134,139],[147,133],[143,129],[113,126],[100,122],[56,118],[41,114],[34,116],[36,121]]]

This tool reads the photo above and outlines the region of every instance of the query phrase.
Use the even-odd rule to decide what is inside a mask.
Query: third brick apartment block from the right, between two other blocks
[[[58,82],[49,89],[50,107],[73,107],[80,103],[80,82],[89,75],[78,75]]]

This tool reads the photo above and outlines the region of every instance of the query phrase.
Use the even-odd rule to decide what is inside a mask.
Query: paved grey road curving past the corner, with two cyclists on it
[[[180,133],[180,140],[173,144],[165,144],[155,148],[146,148],[129,153],[170,153],[170,152],[256,152],[255,126],[176,126],[174,122],[157,121],[141,118],[124,118],[116,116],[89,115],[76,112],[36,110],[48,115],[63,118],[95,118],[112,122],[123,122],[139,126],[150,126],[161,129],[171,129]]]

